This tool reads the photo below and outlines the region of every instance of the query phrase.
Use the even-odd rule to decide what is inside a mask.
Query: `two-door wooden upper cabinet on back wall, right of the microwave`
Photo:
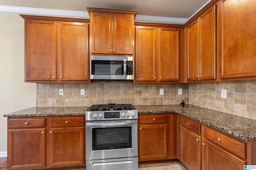
[[[136,26],[134,82],[177,82],[180,69],[180,30]]]

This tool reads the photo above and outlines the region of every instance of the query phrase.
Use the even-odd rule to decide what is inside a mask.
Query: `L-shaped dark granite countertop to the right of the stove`
[[[135,107],[138,113],[179,113],[245,141],[256,141],[256,120],[253,119],[192,105],[184,108],[180,108],[180,105]]]

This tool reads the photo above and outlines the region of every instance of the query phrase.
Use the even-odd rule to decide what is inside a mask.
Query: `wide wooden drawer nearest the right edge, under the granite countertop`
[[[204,129],[204,137],[208,141],[211,141],[223,149],[226,149],[237,156],[246,159],[246,143],[238,141],[208,127],[205,127]]]

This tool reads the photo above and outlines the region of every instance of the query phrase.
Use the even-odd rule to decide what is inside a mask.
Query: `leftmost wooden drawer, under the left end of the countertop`
[[[9,119],[9,128],[45,127],[45,118]]]

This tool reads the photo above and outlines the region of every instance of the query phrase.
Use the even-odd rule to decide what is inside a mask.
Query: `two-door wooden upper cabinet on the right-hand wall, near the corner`
[[[187,80],[216,79],[216,5],[186,29]]]

